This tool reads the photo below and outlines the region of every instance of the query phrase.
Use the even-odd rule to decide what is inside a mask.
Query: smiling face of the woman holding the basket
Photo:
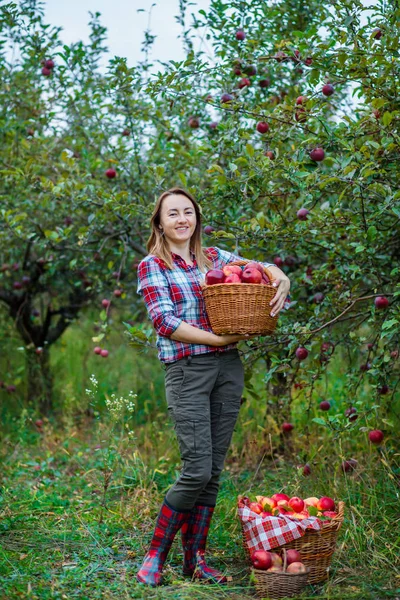
[[[192,202],[181,194],[171,194],[162,201],[160,225],[172,245],[189,242],[196,228],[196,211]]]

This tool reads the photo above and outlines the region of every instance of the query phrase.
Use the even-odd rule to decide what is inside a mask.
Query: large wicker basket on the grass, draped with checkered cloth
[[[322,529],[319,531],[307,529],[301,538],[273,548],[271,552],[280,554],[283,550],[290,550],[291,548],[298,550],[301,554],[302,562],[310,569],[308,583],[314,584],[325,581],[328,579],[329,567],[335,551],[338,531],[343,523],[343,516],[344,502],[339,502],[338,516],[330,521],[324,521]],[[242,522],[240,524],[242,526]],[[242,540],[246,558],[249,564],[252,564],[243,527]]]

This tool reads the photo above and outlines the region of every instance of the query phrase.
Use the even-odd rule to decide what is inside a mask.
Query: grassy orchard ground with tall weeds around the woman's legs
[[[163,372],[154,353],[127,350],[115,335],[107,359],[89,354],[90,326],[89,320],[80,330],[71,328],[54,356],[57,393],[67,389],[70,400],[63,416],[41,422],[30,408],[18,415],[16,396],[14,410],[3,407],[0,597],[253,598],[236,499],[277,491],[329,495],[346,504],[330,580],[307,587],[301,598],[398,597],[395,440],[387,436],[381,446],[370,444],[362,416],[345,439],[317,423],[306,438],[302,390],[293,406],[294,428],[283,437],[265,415],[265,399],[247,394],[242,405],[208,545],[210,563],[232,576],[229,585],[201,586],[184,579],[177,539],[165,569],[166,585],[140,587],[135,573],[179,469],[178,450],[165,419]],[[327,377],[336,412],[346,397],[342,360],[332,359]],[[79,377],[72,377],[80,369],[95,373],[89,388],[97,391],[80,389]],[[252,383],[262,394],[259,374]],[[131,389],[137,394],[133,412],[131,400],[119,402]],[[317,392],[313,411],[320,414]],[[297,468],[306,447],[307,477]],[[343,473],[345,458],[358,461],[354,471]]]

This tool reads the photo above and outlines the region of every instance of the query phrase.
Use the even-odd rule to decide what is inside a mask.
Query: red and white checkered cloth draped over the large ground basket
[[[318,517],[302,520],[289,515],[260,517],[240,501],[238,513],[250,554],[255,550],[272,550],[302,537],[306,529],[318,531],[322,527]]]

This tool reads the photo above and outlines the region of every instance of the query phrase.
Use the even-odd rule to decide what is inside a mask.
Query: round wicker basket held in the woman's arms
[[[238,260],[231,264],[243,266],[248,262]],[[278,316],[271,317],[273,307],[269,305],[276,293],[272,287],[274,277],[266,267],[264,271],[269,285],[217,283],[203,286],[206,311],[215,334],[268,335],[274,331]]]

